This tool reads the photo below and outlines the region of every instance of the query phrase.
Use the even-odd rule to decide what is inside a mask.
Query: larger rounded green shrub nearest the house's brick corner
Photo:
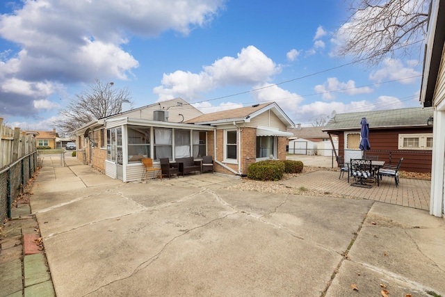
[[[248,166],[248,178],[255,180],[280,180],[284,174],[284,162],[266,160]]]

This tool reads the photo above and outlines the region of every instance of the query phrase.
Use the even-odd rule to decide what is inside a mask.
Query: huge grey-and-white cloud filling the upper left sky
[[[225,1],[17,1],[0,17],[0,37],[19,48],[0,54],[0,114],[35,114],[34,100],[47,99],[59,81],[129,79],[139,65],[129,38],[187,35],[207,26]]]

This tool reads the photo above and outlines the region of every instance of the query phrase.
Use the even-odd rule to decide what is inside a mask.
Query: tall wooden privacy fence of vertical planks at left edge
[[[3,125],[0,118],[0,169],[36,151],[35,138],[23,134],[20,128],[9,128]]]

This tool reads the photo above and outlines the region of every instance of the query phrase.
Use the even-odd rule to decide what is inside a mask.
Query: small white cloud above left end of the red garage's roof
[[[323,99],[332,100],[336,93],[343,93],[347,95],[369,94],[373,92],[369,87],[355,87],[355,81],[349,80],[346,83],[341,82],[337,77],[330,77],[323,83],[314,87],[316,93],[322,94]]]

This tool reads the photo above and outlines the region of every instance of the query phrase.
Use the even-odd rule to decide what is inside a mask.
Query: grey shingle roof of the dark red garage
[[[366,118],[369,129],[387,127],[426,126],[432,116],[432,107],[412,107],[386,111],[363,111],[359,113],[337,113],[323,127],[323,131],[360,129],[360,121]]]

